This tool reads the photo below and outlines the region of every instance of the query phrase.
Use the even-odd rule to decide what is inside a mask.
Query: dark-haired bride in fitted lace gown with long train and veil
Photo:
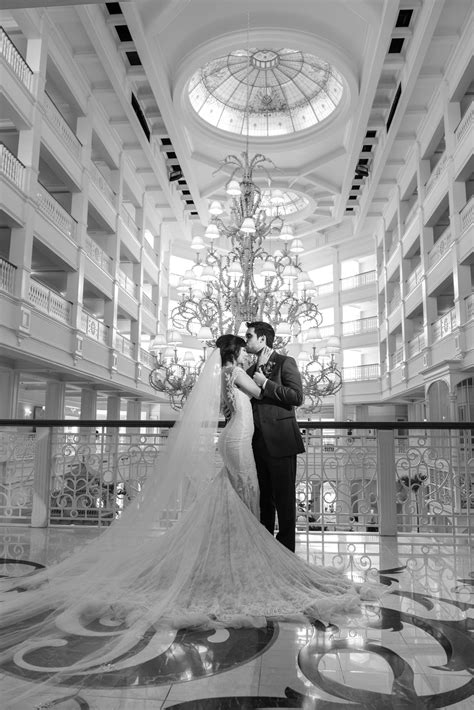
[[[15,657],[53,682],[80,683],[157,629],[329,620],[358,608],[346,577],[308,565],[260,524],[250,403],[260,388],[241,367],[242,338],[224,335],[217,346],[158,470],[122,517],[69,558],[5,583],[2,663]],[[231,413],[219,437],[224,466],[220,408]],[[77,637],[88,649],[79,660]],[[38,649],[55,646],[61,663],[42,667]]]

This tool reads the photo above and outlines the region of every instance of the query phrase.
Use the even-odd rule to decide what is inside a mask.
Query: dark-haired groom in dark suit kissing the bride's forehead
[[[247,373],[262,390],[262,399],[252,399],[260,521],[273,535],[276,512],[277,540],[294,552],[296,454],[304,451],[295,416],[303,401],[301,376],[292,357],[273,350],[275,331],[269,323],[247,323],[245,339],[247,352],[257,355]]]

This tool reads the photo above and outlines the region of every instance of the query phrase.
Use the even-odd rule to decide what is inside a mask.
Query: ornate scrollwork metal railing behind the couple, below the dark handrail
[[[173,423],[0,420],[0,523],[108,525],[148,477],[160,475]],[[299,425],[306,448],[295,500],[300,544],[331,532],[470,531],[474,440],[466,424]]]

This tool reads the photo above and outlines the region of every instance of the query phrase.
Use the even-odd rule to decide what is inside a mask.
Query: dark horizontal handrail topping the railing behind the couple
[[[95,427],[102,428],[125,428],[131,429],[153,429],[171,428],[176,424],[174,419],[0,419],[0,427]],[[474,429],[474,422],[379,422],[379,421],[351,421],[351,422],[313,422],[299,419],[298,424],[303,429],[441,429],[464,431]],[[219,422],[220,428],[225,426],[225,422]]]

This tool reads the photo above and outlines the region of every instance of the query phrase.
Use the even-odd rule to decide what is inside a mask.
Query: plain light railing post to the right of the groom
[[[377,486],[380,535],[397,534],[395,445],[393,430],[377,431]]]

